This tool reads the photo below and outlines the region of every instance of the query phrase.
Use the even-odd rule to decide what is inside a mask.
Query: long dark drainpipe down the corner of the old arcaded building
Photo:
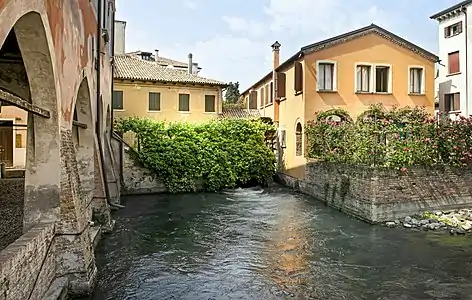
[[[96,68],[97,68],[97,113],[96,113],[96,120],[95,120],[95,134],[97,135],[97,142],[98,142],[98,152],[99,152],[99,155],[100,155],[100,163],[102,165],[102,181],[103,181],[103,185],[104,185],[104,188],[105,188],[105,198],[107,199],[107,203],[110,207],[114,207],[114,208],[121,208],[121,206],[117,206],[115,205],[114,203],[111,203],[110,201],[110,190],[108,188],[108,180],[107,180],[107,174],[106,174],[106,171],[105,171],[105,159],[104,159],[104,155],[103,155],[103,146],[102,146],[102,141],[100,139],[100,122],[99,122],[99,119],[101,121],[101,117],[99,118],[99,113],[102,113],[102,108],[100,107],[100,96],[101,96],[101,92],[100,92],[100,88],[101,88],[101,84],[100,84],[100,74],[101,74],[101,67],[100,67],[100,56],[101,56],[101,52],[100,52],[100,46],[102,44],[101,42],[101,32],[102,32],[102,1],[98,1],[98,18],[97,18],[97,63],[96,63]]]

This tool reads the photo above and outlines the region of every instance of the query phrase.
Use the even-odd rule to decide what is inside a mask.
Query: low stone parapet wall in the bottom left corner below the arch
[[[42,298],[56,275],[53,238],[54,224],[38,224],[0,252],[2,300]]]

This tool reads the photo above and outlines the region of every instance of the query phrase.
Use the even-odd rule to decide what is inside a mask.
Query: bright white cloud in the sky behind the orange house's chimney
[[[262,2],[262,1],[261,1]],[[218,35],[186,49],[203,68],[202,76],[240,81],[241,88],[270,71],[274,40],[282,44],[286,59],[300,47],[371,23],[390,28],[394,16],[386,14],[374,0],[269,0],[261,3],[259,18],[223,16],[230,34]],[[180,57],[186,58],[186,53]]]

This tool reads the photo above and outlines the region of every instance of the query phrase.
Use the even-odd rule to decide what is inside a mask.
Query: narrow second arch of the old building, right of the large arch
[[[92,121],[92,103],[88,79],[84,78],[77,90],[74,107],[74,122],[72,124],[76,149],[77,166],[81,184],[81,194],[88,208],[93,200],[94,190],[94,127]],[[86,210],[91,219],[91,209]]]

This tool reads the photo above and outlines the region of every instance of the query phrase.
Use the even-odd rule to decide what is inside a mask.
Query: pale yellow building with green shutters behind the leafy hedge
[[[218,117],[226,84],[195,74],[190,68],[169,68],[131,54],[115,56],[115,118],[139,116],[158,121],[198,123]]]

